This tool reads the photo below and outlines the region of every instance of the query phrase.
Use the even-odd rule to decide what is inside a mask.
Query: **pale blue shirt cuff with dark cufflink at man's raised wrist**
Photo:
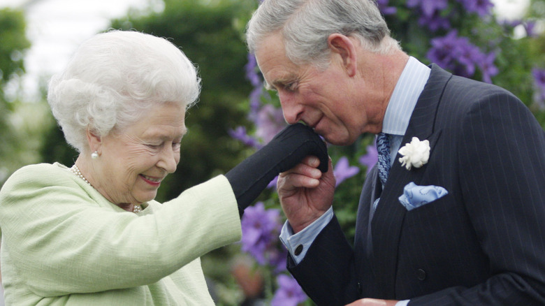
[[[288,249],[289,254],[291,254],[293,261],[295,261],[297,265],[303,261],[310,245],[312,245],[312,242],[314,242],[321,230],[329,224],[331,219],[333,219],[333,207],[329,207],[329,209],[312,222],[312,224],[296,234],[293,234],[293,228],[291,228],[288,221],[284,223],[282,232],[280,232],[280,241],[282,241],[286,249]]]

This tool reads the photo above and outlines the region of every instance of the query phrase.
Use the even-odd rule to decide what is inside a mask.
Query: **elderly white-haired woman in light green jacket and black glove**
[[[293,125],[157,203],[199,92],[194,65],[163,38],[110,31],[80,46],[48,95],[78,159],[25,166],[0,191],[8,305],[213,305],[199,257],[240,239],[240,214],[277,173],[307,155],[328,162],[323,141]]]

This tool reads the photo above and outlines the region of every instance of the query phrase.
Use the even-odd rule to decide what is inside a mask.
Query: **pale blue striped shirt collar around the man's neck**
[[[382,132],[392,135],[405,135],[412,111],[422,93],[431,69],[414,57],[409,57],[384,114]]]

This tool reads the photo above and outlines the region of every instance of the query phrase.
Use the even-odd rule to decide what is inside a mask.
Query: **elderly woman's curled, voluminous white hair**
[[[49,83],[48,103],[66,141],[78,152],[86,131],[123,131],[161,103],[186,110],[196,103],[201,78],[185,54],[164,38],[108,31],[80,45]]]

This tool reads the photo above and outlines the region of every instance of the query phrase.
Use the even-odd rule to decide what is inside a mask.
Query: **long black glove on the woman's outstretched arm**
[[[324,140],[304,124],[293,124],[277,133],[265,147],[226,173],[242,212],[261,194],[275,176],[300,163],[305,156],[320,159],[321,172],[328,170],[328,151]]]

